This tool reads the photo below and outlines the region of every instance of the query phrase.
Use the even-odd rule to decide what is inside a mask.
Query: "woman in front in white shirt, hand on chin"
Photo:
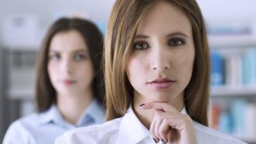
[[[105,44],[109,122],[57,144],[243,143],[207,127],[209,47],[195,0],[118,0]]]

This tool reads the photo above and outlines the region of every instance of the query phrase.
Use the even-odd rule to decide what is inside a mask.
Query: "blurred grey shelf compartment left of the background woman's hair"
[[[33,100],[35,63],[38,45],[5,47],[7,73],[6,95],[10,100]]]

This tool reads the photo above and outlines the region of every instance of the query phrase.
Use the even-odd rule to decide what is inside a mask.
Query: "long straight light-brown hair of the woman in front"
[[[195,0],[117,0],[106,33],[104,63],[106,82],[106,119],[123,116],[133,100],[133,88],[125,69],[140,19],[159,1],[168,1],[182,10],[191,21],[195,44],[193,74],[184,92],[188,115],[208,125],[210,60],[204,19]],[[171,18],[170,18],[171,19]]]

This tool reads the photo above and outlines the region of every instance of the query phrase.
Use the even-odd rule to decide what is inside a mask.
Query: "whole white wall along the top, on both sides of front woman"
[[[33,13],[48,24],[53,13],[87,11],[93,20],[107,21],[115,0],[0,0],[0,17],[12,13]],[[128,0],[127,0],[128,1]],[[205,19],[250,22],[256,20],[255,0],[196,0]]]

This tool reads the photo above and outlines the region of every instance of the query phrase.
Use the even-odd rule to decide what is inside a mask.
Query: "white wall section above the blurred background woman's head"
[[[33,14],[48,25],[60,12],[87,12],[93,20],[108,20],[115,0],[0,0],[0,18],[16,13]]]

